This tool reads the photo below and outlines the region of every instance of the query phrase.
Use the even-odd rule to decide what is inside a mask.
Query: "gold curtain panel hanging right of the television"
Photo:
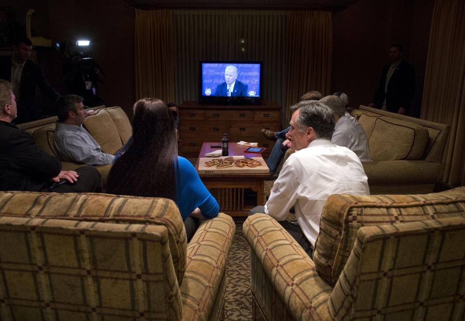
[[[332,19],[329,12],[290,12],[287,30],[286,119],[290,106],[306,92],[330,94],[333,55]]]

